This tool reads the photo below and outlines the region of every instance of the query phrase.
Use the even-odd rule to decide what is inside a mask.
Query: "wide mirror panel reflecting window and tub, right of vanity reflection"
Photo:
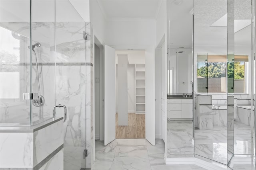
[[[222,164],[227,164],[227,27],[222,22],[226,14],[227,0],[194,1],[194,59],[202,61],[198,54],[207,54],[207,64],[202,63],[201,68],[207,69],[208,81],[208,93],[198,90],[196,96],[195,154]],[[199,81],[196,84],[200,86]]]

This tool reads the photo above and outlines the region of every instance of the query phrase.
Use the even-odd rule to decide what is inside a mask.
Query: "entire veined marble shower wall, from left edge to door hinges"
[[[91,51],[93,41],[90,39],[90,23],[56,22],[56,54],[54,26],[53,22],[32,24],[32,44],[41,43],[41,47],[35,48],[41,95],[45,98],[41,113],[44,118],[51,117],[55,102],[68,107],[68,118],[64,123],[64,167],[68,170],[80,170],[80,168],[90,167],[94,148],[91,104],[93,101],[93,54]],[[17,71],[20,72],[20,100],[1,100],[0,123],[29,125],[30,103],[22,100],[22,93],[30,92],[29,23],[8,22],[1,23],[1,27],[21,33],[23,36],[20,36],[20,55],[17,56],[20,61],[1,65],[1,68],[7,71],[16,66]],[[83,31],[88,33],[86,41],[83,38]],[[32,92],[38,92],[33,53],[32,63]],[[18,114],[16,114],[17,111]],[[63,116],[63,113],[62,108],[56,108],[56,116]],[[38,119],[39,108],[32,106],[32,121]],[[84,149],[88,149],[86,159],[83,158]]]

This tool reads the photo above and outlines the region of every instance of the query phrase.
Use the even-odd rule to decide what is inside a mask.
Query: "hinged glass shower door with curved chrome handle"
[[[66,12],[68,11],[68,12]],[[56,1],[56,104],[67,107],[64,170],[90,167],[86,148],[86,22],[68,0]],[[89,46],[90,47],[90,46]],[[63,110],[56,108],[56,116]],[[89,133],[90,134],[90,133]],[[90,140],[90,139],[87,139]],[[88,161],[87,161],[88,160]]]

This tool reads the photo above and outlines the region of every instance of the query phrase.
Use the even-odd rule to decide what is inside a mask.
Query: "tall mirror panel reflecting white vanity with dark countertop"
[[[167,1],[167,158],[194,157],[193,5]]]

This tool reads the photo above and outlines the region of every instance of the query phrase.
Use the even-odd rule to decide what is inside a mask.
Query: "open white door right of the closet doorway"
[[[155,146],[155,49],[145,51],[145,137]]]

